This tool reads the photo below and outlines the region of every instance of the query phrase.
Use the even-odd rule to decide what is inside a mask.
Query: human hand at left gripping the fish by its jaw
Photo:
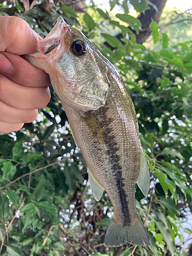
[[[49,75],[19,55],[36,52],[42,38],[19,17],[0,17],[0,132],[20,130],[50,100]]]

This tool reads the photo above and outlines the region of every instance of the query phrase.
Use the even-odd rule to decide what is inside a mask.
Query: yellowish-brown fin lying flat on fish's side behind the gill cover
[[[106,133],[99,120],[90,111],[81,115],[81,118],[97,142],[106,143]]]

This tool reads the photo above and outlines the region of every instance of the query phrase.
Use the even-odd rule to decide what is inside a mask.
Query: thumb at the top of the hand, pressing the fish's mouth
[[[36,52],[42,38],[19,17],[0,17],[0,52],[24,55]]]

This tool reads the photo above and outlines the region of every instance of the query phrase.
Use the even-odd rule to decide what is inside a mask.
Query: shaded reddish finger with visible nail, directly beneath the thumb
[[[27,60],[12,53],[0,53],[0,72],[1,70],[4,75],[22,86],[51,86],[49,75],[45,71],[35,68]]]

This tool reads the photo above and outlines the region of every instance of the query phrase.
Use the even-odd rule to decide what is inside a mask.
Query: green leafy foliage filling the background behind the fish
[[[138,12],[148,1],[130,1]],[[99,9],[88,13],[55,5],[49,13],[40,4],[24,10],[20,2],[9,9],[46,36],[59,15],[81,28],[118,69],[135,104],[141,142],[151,170],[146,199],[136,191],[136,207],[145,224],[150,247],[107,249],[105,228],[113,210],[108,196],[96,202],[90,193],[87,166],[76,147],[65,111],[52,98],[33,123],[16,133],[0,134],[0,240],[2,255],[186,255],[183,227],[191,214],[192,42],[170,45],[166,33],[151,24],[158,52],[135,42],[140,22],[129,13]],[[7,12],[6,12],[7,10]],[[0,10],[1,11],[1,10]],[[25,12],[24,12],[25,11]],[[8,12],[9,13],[9,12]],[[127,28],[130,25],[133,30]],[[122,32],[119,41],[113,37]],[[126,34],[129,34],[129,39]],[[113,36],[112,36],[113,35]],[[106,48],[104,40],[114,48]],[[123,42],[123,44],[122,44]],[[102,254],[104,253],[104,254]]]

